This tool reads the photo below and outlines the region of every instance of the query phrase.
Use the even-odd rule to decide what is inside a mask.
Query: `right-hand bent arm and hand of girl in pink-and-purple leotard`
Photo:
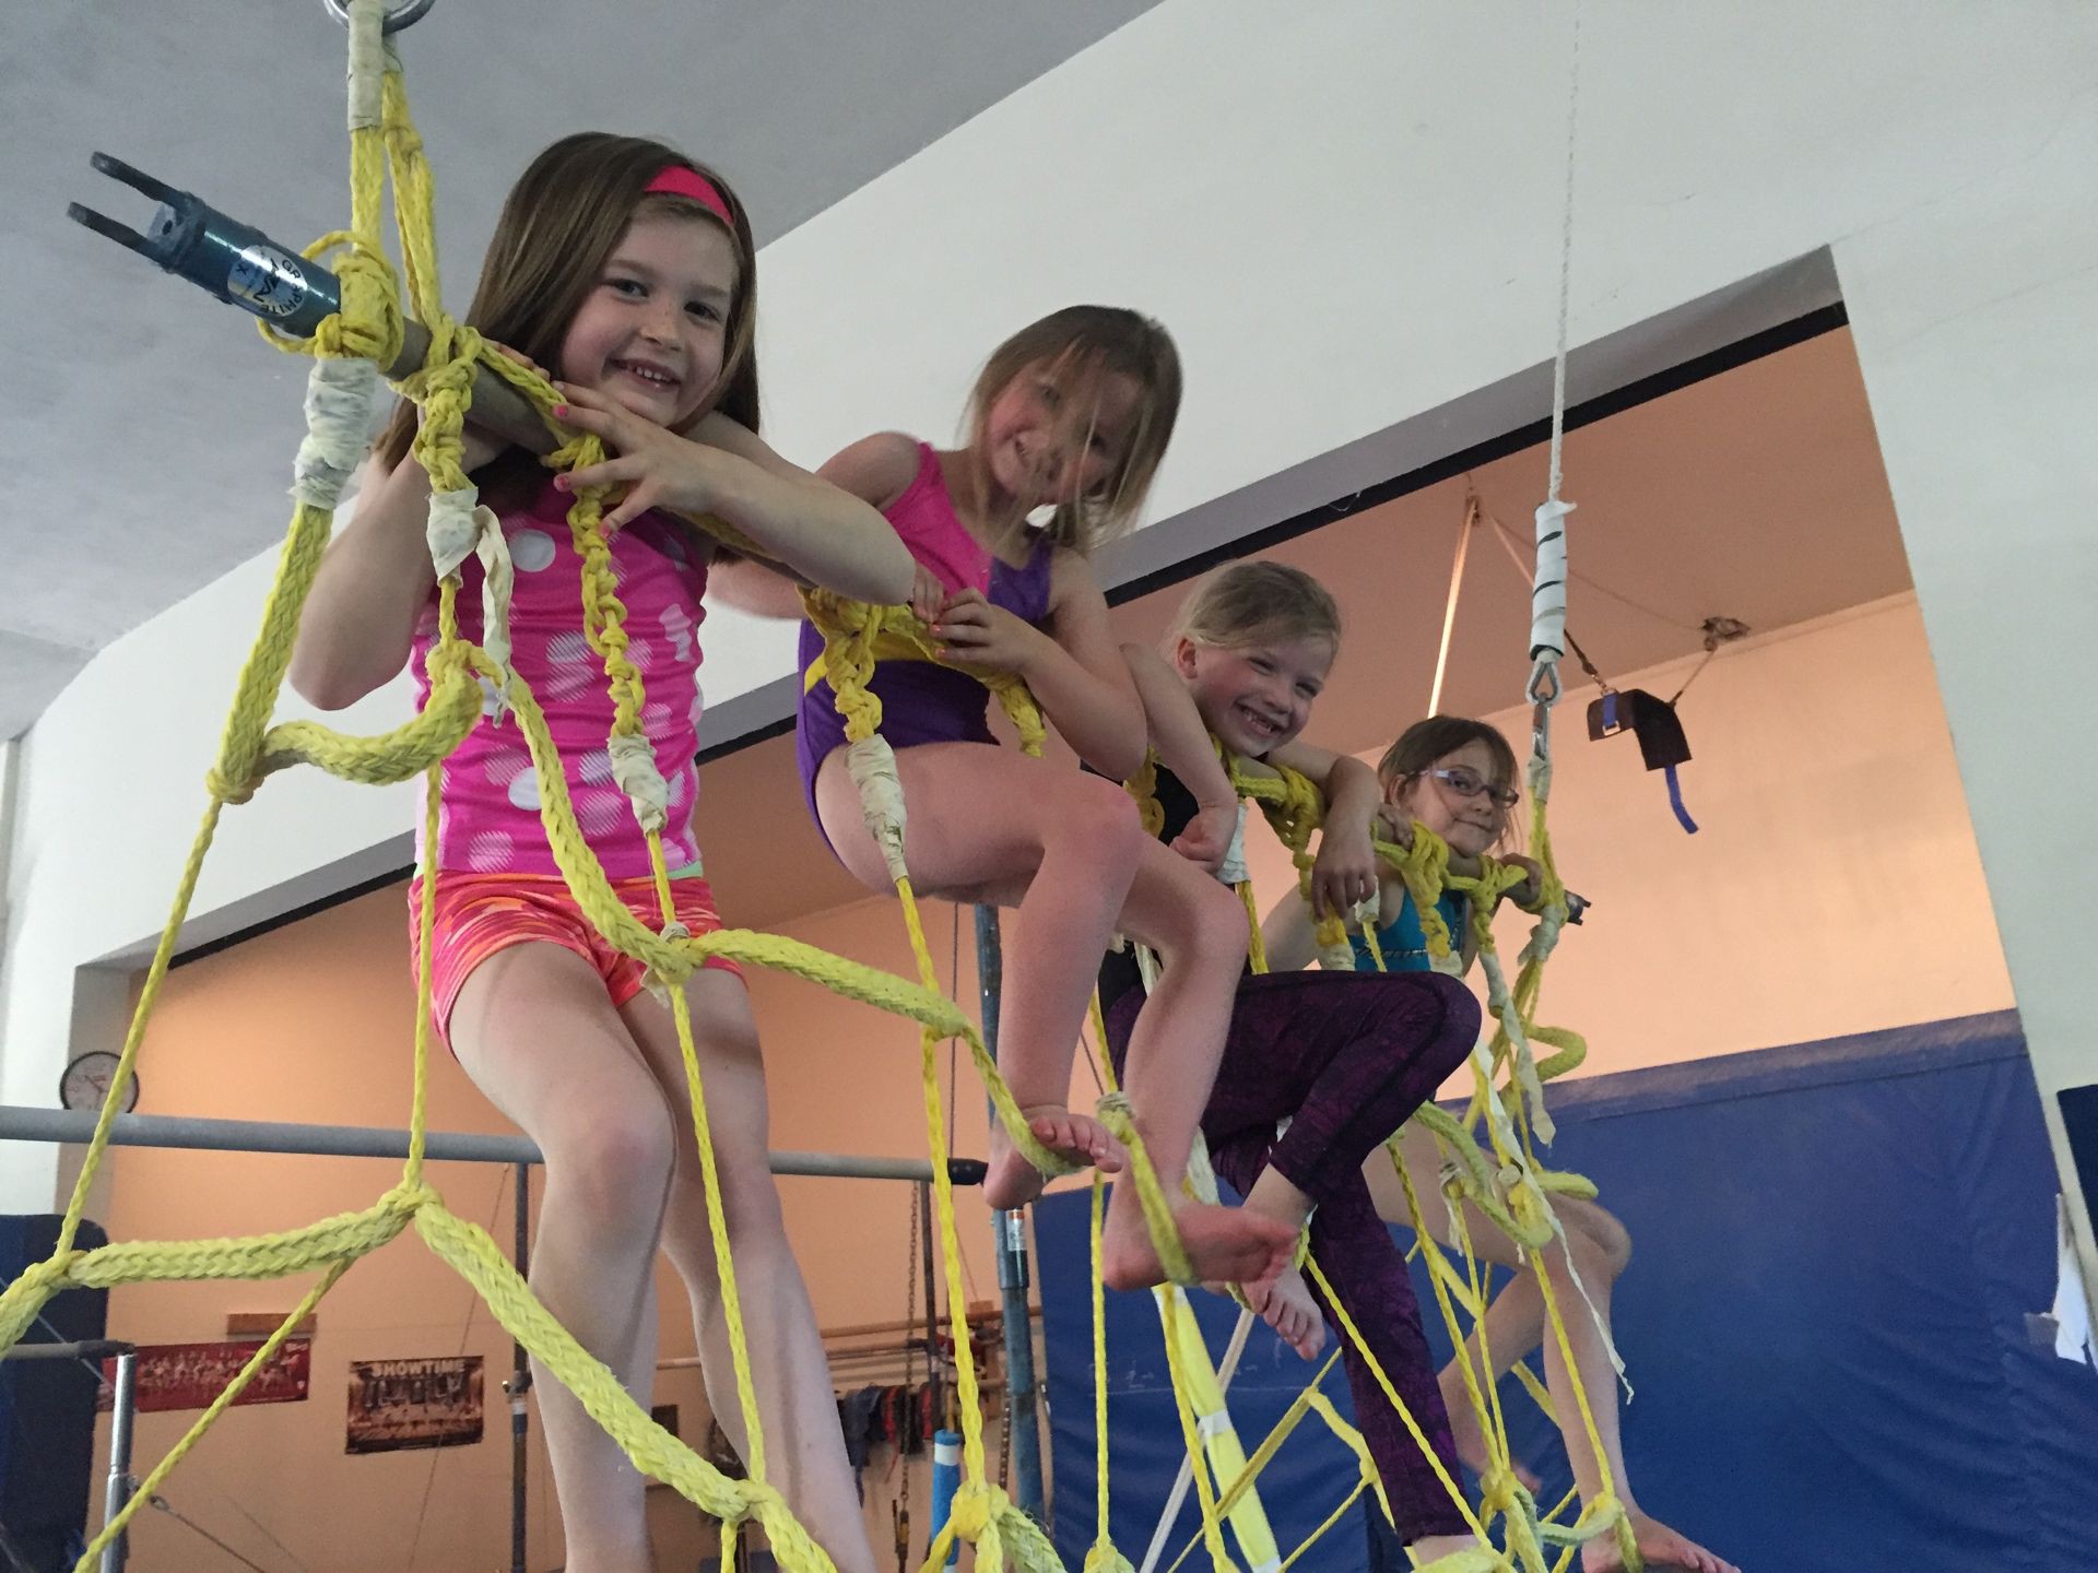
[[[955,661],[1020,673],[1080,759],[1129,780],[1143,763],[1143,705],[1108,629],[1108,598],[1076,552],[1055,550],[1043,621],[1036,629],[965,589],[932,631]]]

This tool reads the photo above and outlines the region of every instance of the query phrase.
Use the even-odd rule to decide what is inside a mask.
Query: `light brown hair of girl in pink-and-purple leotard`
[[[1179,350],[1160,323],[1122,306],[1066,306],[1022,327],[990,352],[969,392],[969,413],[963,424],[969,434],[971,487],[978,497],[990,495],[984,457],[990,407],[1028,367],[1051,367],[1068,380],[1066,409],[1078,436],[1093,419],[1104,378],[1125,375],[1137,384],[1137,417],[1114,474],[1095,495],[1059,501],[1045,531],[1057,545],[1091,552],[1135,524],[1152,489],[1152,476],[1158,474],[1158,461],[1173,438],[1173,422],[1179,417]],[[1018,529],[1022,520],[1003,522]]]

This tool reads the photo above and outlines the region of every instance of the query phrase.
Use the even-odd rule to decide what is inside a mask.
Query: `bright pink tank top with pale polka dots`
[[[545,487],[520,512],[504,518],[504,539],[516,566],[510,602],[512,665],[531,684],[560,749],[569,797],[590,847],[611,879],[648,875],[648,843],[634,822],[627,795],[613,780],[604,738],[613,698],[604,661],[583,638],[583,558],[569,539],[569,497]],[[707,564],[678,524],[644,514],[611,541],[613,577],[627,608],[627,659],[642,675],[642,730],[655,745],[657,770],[669,782],[663,858],[676,872],[699,862],[692,799],[699,791],[699,623]],[[468,558],[459,583],[459,629],[480,640],[478,558]],[[409,667],[418,709],[430,696],[426,661],[436,642],[436,594],[415,627]],[[457,872],[558,875],[539,820],[539,780],[514,715],[491,719],[493,694],[466,742],[443,766],[443,807],[436,866]],[[422,824],[418,816],[418,856]]]

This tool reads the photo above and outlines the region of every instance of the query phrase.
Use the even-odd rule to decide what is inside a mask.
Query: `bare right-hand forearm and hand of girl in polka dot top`
[[[665,432],[604,394],[562,384],[556,419],[596,432],[617,449],[602,464],[556,476],[562,491],[625,482],[625,499],[606,512],[617,529],[650,508],[720,514],[785,568],[852,600],[892,606],[911,596],[911,552],[862,497],[787,464],[759,436],[726,415],[699,424],[699,440]]]

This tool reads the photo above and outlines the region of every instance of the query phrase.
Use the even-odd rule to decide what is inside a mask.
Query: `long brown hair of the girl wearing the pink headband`
[[[757,430],[757,247],[751,220],[730,185],[705,164],[646,136],[577,132],[562,136],[518,176],[495,220],[495,237],[480,262],[480,283],[466,308],[466,323],[483,336],[560,371],[560,344],[583,298],[596,287],[627,224],[638,214],[676,214],[720,224],[720,216],[690,197],[648,191],[667,166],[692,170],[728,203],[736,243],[736,294],[728,306],[728,346],[715,394],[701,407],[720,409]],[[397,466],[415,438],[415,407],[394,409],[378,440],[378,455]],[[529,491],[537,459],[508,449],[478,480],[497,501]]]

